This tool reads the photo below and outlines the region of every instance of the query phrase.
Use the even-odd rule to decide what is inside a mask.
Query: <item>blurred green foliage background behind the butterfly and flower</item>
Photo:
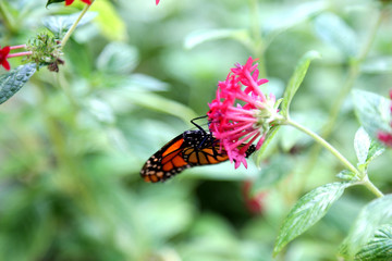
[[[45,32],[77,0],[0,0],[0,45]],[[298,59],[320,52],[294,98],[292,117],[320,132],[360,55],[381,4],[370,0],[96,0],[58,74],[41,69],[0,105],[0,260],[272,260],[282,220],[306,191],[342,166],[282,127],[260,167],[229,162],[186,170],[163,184],[139,177],[144,162],[204,115],[235,62],[260,59],[282,96]],[[4,15],[7,14],[7,15]],[[392,85],[390,12],[359,61],[354,88],[387,96]],[[12,67],[21,61],[11,59]],[[4,71],[1,71],[4,73]],[[329,140],[355,162],[359,127],[348,95]],[[392,191],[391,152],[370,178]],[[316,226],[275,260],[336,260],[340,243],[373,196],[350,188]]]

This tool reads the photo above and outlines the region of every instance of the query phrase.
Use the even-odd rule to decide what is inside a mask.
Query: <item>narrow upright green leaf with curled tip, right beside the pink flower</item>
[[[289,115],[290,103],[304,80],[311,60],[316,58],[320,58],[320,54],[317,51],[308,51],[299,60],[283,95],[281,111],[284,116]]]

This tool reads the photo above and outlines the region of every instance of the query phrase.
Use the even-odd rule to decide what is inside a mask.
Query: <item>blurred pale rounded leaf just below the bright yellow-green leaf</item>
[[[136,48],[122,42],[111,42],[97,59],[97,67],[106,73],[128,74],[138,62]]]

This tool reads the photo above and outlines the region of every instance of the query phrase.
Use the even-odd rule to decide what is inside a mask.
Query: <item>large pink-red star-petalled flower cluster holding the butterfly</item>
[[[241,163],[246,167],[246,150],[257,139],[256,149],[259,149],[270,123],[281,117],[277,114],[275,97],[267,97],[259,89],[268,79],[258,78],[255,61],[249,58],[245,65],[231,69],[226,79],[218,84],[217,98],[209,103],[207,113],[212,135],[228,151],[230,160],[235,161],[235,169]],[[245,146],[241,147],[242,144]]]

